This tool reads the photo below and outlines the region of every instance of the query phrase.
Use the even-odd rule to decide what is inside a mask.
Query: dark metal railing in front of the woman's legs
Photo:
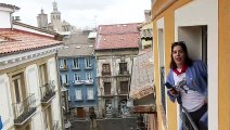
[[[180,115],[183,130],[199,130],[195,122],[192,120],[191,116],[189,115],[188,110],[182,105],[180,105],[180,107],[183,110],[183,114],[181,113]]]

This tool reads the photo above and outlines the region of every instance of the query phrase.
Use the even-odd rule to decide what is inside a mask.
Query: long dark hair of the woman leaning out
[[[170,62],[170,66],[169,67],[171,69],[177,68],[177,64],[175,63],[174,57],[173,57],[174,48],[177,47],[177,46],[180,46],[182,48],[182,50],[184,52],[184,62],[186,62],[186,64],[188,66],[191,66],[193,61],[189,57],[187,46],[186,46],[184,41],[178,41],[178,42],[174,42],[171,44],[171,62]]]

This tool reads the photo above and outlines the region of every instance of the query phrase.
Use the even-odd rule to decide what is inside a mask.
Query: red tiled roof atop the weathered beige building
[[[139,48],[140,23],[100,25],[95,50]]]

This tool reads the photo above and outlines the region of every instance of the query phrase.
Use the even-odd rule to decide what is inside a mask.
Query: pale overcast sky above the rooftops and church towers
[[[37,15],[41,8],[49,15],[54,0],[0,0],[0,3],[13,4],[21,10],[25,24],[37,26]],[[76,27],[94,27],[95,25],[136,23],[144,21],[144,10],[150,10],[151,0],[55,0],[58,9],[65,20]]]

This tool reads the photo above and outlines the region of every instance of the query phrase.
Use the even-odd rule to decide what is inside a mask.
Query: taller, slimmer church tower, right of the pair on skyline
[[[55,1],[53,2],[53,11],[51,13],[51,24],[53,25],[53,30],[62,31],[61,12],[59,12]]]

